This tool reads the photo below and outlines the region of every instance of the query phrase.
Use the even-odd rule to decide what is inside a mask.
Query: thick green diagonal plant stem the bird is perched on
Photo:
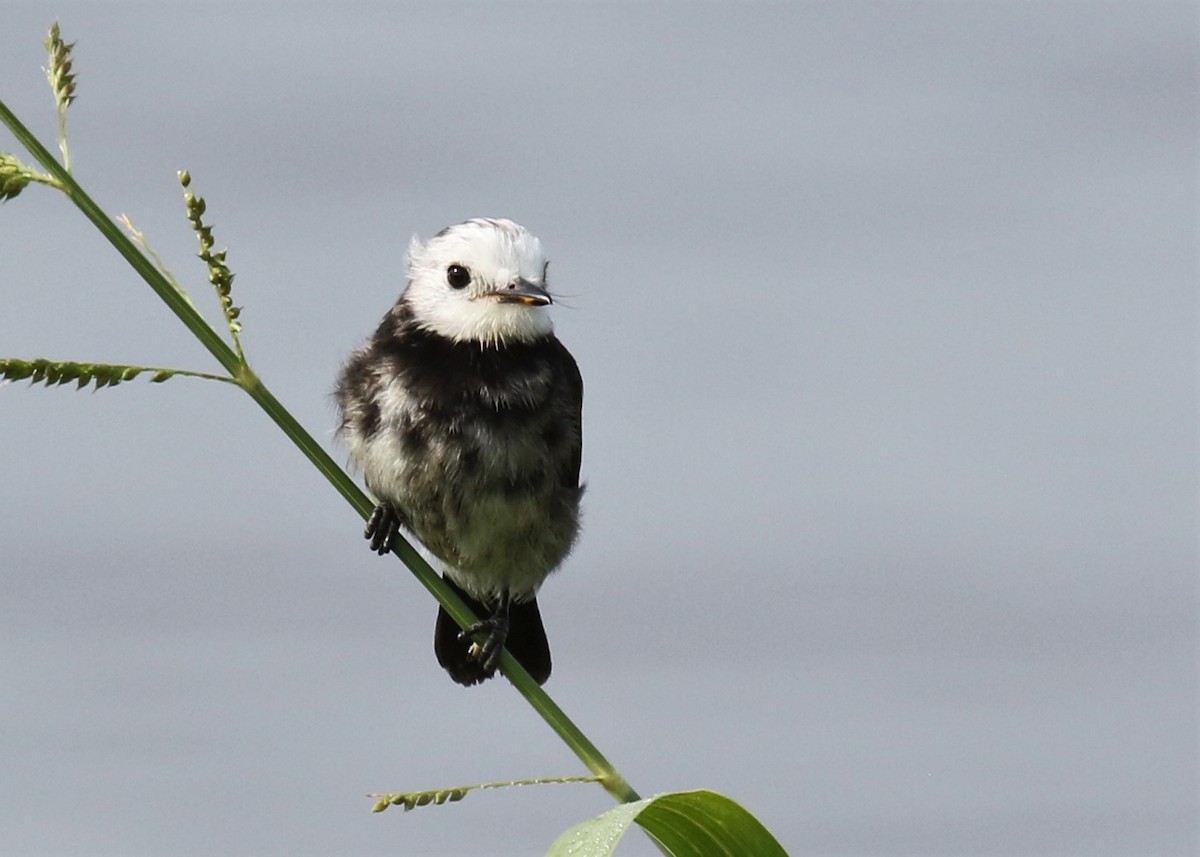
[[[229,372],[233,383],[245,390],[266,412],[266,415],[275,421],[283,433],[304,453],[322,475],[337,489],[338,493],[346,498],[361,517],[368,517],[374,504],[354,484],[349,475],[338,467],[320,444],[288,413],[271,391],[266,389],[265,384],[263,384],[240,353],[240,346],[236,350],[229,347],[221,335],[200,316],[187,296],[173,286],[154,263],[138,250],[137,245],[88,196],[71,173],[50,155],[46,146],[22,124],[4,101],[0,101],[0,122],[4,122],[8,127],[13,137],[46,169],[53,179],[53,186],[61,190],[74,203],[76,208],[92,222],[116,252],[130,263],[133,270],[154,289],[155,294],[170,307],[172,312],[175,313],[192,335],[216,358],[217,362]],[[222,306],[222,308],[226,310],[227,307]],[[412,544],[397,537],[392,545],[392,552],[400,557],[421,585],[445,606],[455,622],[466,628],[476,621],[470,610],[442,582],[440,576],[416,552]],[[500,655],[500,669],[517,691],[533,706],[534,711],[541,715],[546,724],[578,756],[580,761],[596,775],[599,783],[610,795],[623,803],[640,799],[637,792],[625,781],[625,778],[620,775],[612,763],[605,759],[604,754],[566,717],[563,709],[538,687],[536,682],[533,681],[529,673],[524,671],[508,651]]]

